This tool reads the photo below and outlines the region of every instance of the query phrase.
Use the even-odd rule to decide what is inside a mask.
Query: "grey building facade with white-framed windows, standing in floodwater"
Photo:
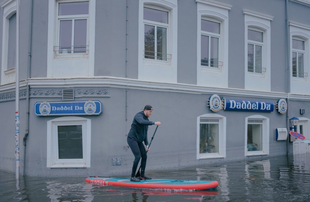
[[[15,172],[17,9],[0,2],[0,169]],[[129,175],[146,104],[162,123],[147,170],[310,151],[288,134],[295,116],[310,138],[309,0],[22,0],[19,16],[21,174]],[[35,114],[95,100],[99,115]]]

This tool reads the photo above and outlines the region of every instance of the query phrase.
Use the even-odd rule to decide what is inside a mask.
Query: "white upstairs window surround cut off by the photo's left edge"
[[[16,0],[5,0],[0,6],[3,8],[1,85],[5,85],[15,82],[15,67],[7,69],[7,52],[9,41],[9,19],[16,13]]]

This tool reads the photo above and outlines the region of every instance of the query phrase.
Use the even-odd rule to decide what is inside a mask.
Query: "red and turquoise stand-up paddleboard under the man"
[[[151,179],[141,180],[140,182],[132,182],[130,181],[130,178],[109,178],[97,176],[86,178],[86,182],[104,186],[174,190],[207,190],[215,189],[219,186],[219,182],[217,181]]]

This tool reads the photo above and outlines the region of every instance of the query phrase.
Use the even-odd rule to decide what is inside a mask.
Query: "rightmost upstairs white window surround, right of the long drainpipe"
[[[289,21],[290,27],[290,92],[292,94],[310,94],[304,89],[310,88],[309,73],[310,73],[310,26],[301,24],[294,21]],[[292,52],[294,51],[292,46],[292,39],[303,40],[305,42],[305,54],[303,71],[308,76],[304,78],[293,77],[293,59]]]

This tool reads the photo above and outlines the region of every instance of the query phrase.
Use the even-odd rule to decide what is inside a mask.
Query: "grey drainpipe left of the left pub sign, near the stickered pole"
[[[33,0],[30,2],[30,16],[29,16],[29,35],[28,35],[28,68],[27,68],[27,91],[26,91],[26,133],[23,138],[23,145],[24,145],[24,175],[25,175],[25,164],[26,164],[26,140],[29,135],[29,93],[30,93],[30,86],[28,84],[28,79],[30,78],[30,70],[31,70],[31,41],[32,41],[32,18],[33,18]]]

